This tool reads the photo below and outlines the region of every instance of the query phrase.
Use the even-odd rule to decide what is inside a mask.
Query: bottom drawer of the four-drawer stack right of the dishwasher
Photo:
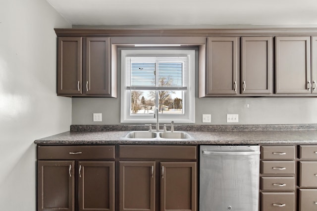
[[[295,211],[295,194],[262,193],[262,211]]]

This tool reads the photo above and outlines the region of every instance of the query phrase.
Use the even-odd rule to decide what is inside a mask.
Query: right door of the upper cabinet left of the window
[[[86,94],[110,94],[109,38],[86,38]]]

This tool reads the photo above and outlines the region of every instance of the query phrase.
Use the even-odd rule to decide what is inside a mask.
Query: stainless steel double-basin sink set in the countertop
[[[124,139],[153,139],[153,140],[187,140],[192,137],[183,131],[174,131],[174,132],[164,132],[164,131],[131,131],[129,132]]]

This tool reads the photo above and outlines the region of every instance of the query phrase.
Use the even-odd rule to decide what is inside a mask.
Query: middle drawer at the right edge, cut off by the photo
[[[317,162],[301,161],[300,183],[301,187],[317,187]],[[317,199],[316,199],[317,200]]]

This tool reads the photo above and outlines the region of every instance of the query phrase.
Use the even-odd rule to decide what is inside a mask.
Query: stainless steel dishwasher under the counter
[[[259,210],[260,146],[200,147],[200,211]]]

